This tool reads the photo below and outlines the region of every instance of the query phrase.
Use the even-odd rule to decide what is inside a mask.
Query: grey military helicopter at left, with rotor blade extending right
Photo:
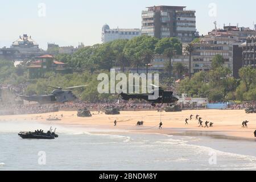
[[[74,89],[74,88],[81,88],[88,85],[80,85],[80,86],[72,86],[64,89]],[[52,104],[52,103],[65,103],[65,102],[72,102],[77,99],[75,94],[72,93],[71,90],[63,90],[60,87],[48,86],[49,88],[53,88],[51,94],[46,94],[43,96],[24,96],[19,95],[18,97],[22,98],[22,100],[29,101],[29,102],[39,102],[40,104]]]

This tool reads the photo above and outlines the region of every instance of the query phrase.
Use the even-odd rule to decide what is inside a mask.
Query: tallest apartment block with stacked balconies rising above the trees
[[[196,11],[185,6],[152,6],[142,11],[142,35],[156,38],[177,37],[191,42],[196,33]]]

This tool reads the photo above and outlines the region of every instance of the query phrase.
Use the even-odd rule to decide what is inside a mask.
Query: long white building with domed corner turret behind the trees
[[[141,35],[141,30],[139,28],[116,28],[116,29],[110,29],[108,24],[105,24],[102,27],[102,33],[101,33],[101,41],[102,43],[106,42],[112,42],[113,40],[118,39],[132,39],[136,36]]]

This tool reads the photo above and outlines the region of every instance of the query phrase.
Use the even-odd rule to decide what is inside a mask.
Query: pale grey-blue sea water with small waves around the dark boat
[[[255,170],[255,142],[55,126],[54,140],[22,139],[47,130],[36,122],[0,123],[0,170]]]

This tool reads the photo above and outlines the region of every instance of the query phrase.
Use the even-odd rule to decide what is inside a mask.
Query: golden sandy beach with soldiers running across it
[[[63,118],[61,118],[63,114]],[[120,115],[106,115],[92,112],[90,118],[79,118],[76,111],[59,111],[54,113],[61,121],[50,122],[46,119],[53,113],[31,114],[31,115],[6,115],[0,116],[1,121],[31,121],[40,123],[51,123],[61,125],[81,125],[89,128],[126,130],[143,133],[159,133],[171,135],[204,135],[226,139],[255,140],[256,114],[246,114],[244,110],[186,110],[176,113],[158,111],[121,111]],[[185,125],[185,118],[193,114],[189,125]],[[202,120],[213,122],[213,127],[199,127],[195,115],[199,114]],[[160,118],[163,129],[159,130]],[[114,120],[117,119],[117,127]],[[248,128],[242,128],[243,121],[250,121]],[[144,126],[136,126],[138,121],[144,121]],[[203,124],[205,126],[205,124]]]

